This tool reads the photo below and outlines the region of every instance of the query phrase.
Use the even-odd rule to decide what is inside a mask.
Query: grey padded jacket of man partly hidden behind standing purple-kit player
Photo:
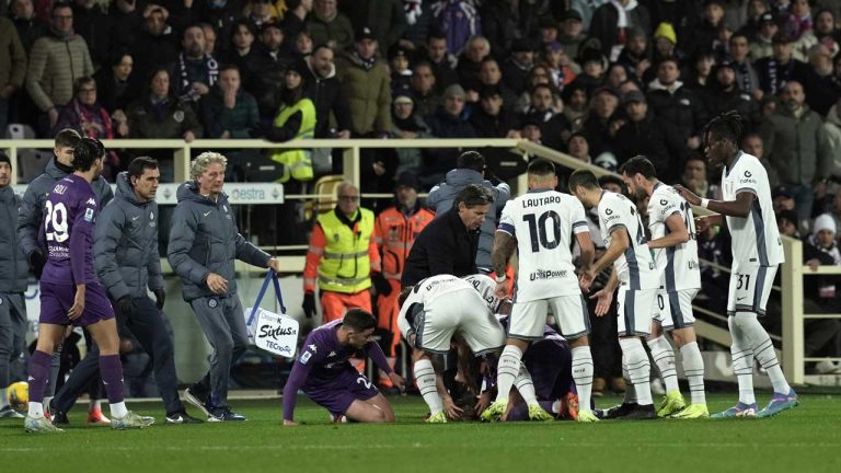
[[[26,186],[26,193],[23,195],[23,201],[18,215],[18,238],[20,239],[23,254],[26,255],[27,259],[35,250],[46,254],[45,250],[38,245],[38,229],[44,217],[44,201],[47,200],[47,195],[53,191],[56,181],[67,174],[56,165],[56,159],[54,158],[53,161],[47,163],[44,174],[35,177]],[[104,208],[114,198],[111,185],[102,176],[97,177],[91,186],[96,195],[96,200],[100,201],[100,209]]]

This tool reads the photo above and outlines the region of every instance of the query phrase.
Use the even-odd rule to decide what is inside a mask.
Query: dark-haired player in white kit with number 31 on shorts
[[[757,157],[739,150],[742,118],[727,112],[710,122],[704,151],[711,166],[722,168],[724,200],[701,198],[676,187],[690,204],[717,215],[695,219],[699,232],[726,224],[733,239],[733,268],[727,297],[727,322],[733,345],[733,371],[739,382],[739,402],[713,417],[769,417],[795,407],[797,394],[785,380],[765,328],[757,320],[765,303],[777,266],[785,261],[783,242],[771,203],[771,186]],[[753,358],[768,371],[774,394],[762,411],[753,396]]]

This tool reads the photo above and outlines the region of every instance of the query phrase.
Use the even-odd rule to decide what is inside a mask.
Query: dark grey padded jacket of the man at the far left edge
[[[15,227],[21,198],[12,186],[0,188],[0,292],[26,290],[30,265],[21,251]]]

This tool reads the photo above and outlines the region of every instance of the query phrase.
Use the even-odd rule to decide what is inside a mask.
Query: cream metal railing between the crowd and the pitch
[[[332,140],[332,139],[314,139],[303,141],[288,141],[285,143],[272,143],[264,140],[246,139],[246,140],[223,140],[223,139],[198,139],[192,142],[185,142],[183,140],[145,140],[145,139],[125,139],[125,140],[105,140],[103,141],[108,149],[153,149],[153,150],[172,150],[174,161],[174,182],[180,183],[187,178],[189,175],[189,161],[191,157],[195,153],[218,150],[224,152],[224,150],[270,150],[270,149],[341,149],[343,161],[343,177],[347,181],[355,183],[357,186],[360,184],[360,155],[362,149],[394,149],[394,148],[422,148],[422,149],[476,149],[476,148],[498,148],[506,149],[518,153],[523,160],[528,160],[530,157],[541,157],[549,159],[556,164],[560,164],[567,169],[589,169],[597,176],[613,174],[602,168],[584,163],[568,154],[552,150],[544,146],[533,143],[527,140],[519,139],[353,139],[353,140]],[[15,169],[21,170],[22,166],[18,161],[21,150],[51,150],[54,147],[53,140],[36,139],[36,140],[0,140],[0,150],[4,150],[10,157]],[[454,164],[454,163],[453,163]],[[20,171],[19,171],[20,172]],[[25,189],[25,185],[19,185],[18,172],[12,175],[12,184],[15,185],[15,191],[22,193]],[[176,184],[164,183],[162,185],[161,198],[162,205],[174,204],[169,200],[174,197],[174,188]],[[238,189],[241,186],[241,189]],[[335,198],[334,195],[324,194],[285,194],[283,185],[275,183],[249,183],[249,184],[226,184],[226,189],[230,192],[238,189],[239,196],[242,198],[232,198],[235,204],[243,205],[270,205],[280,204],[286,200],[314,200],[314,199],[331,199]],[[519,195],[527,189],[526,176],[520,175],[517,177],[512,185],[512,194]],[[170,191],[170,197],[166,197],[166,191]],[[258,192],[260,191],[260,192]],[[238,196],[238,197],[239,197]],[[390,197],[391,194],[370,194],[365,193],[362,198],[382,198]],[[233,197],[233,196],[232,196]],[[710,214],[707,209],[694,208],[695,215]],[[783,245],[786,256],[786,263],[781,266],[782,274],[782,287],[774,287],[774,290],[781,291],[782,305],[783,305],[783,330],[782,337],[772,336],[775,341],[782,339],[782,362],[783,369],[790,381],[795,384],[803,384],[805,382],[805,369],[804,365],[808,361],[819,360],[841,360],[841,358],[805,358],[804,357],[804,330],[803,324],[808,319],[841,319],[841,314],[804,314],[803,310],[803,285],[804,277],[810,275],[821,274],[841,274],[841,267],[836,266],[821,266],[817,270],[813,272],[808,266],[800,264],[793,264],[793,262],[803,261],[803,243],[798,240],[784,238]],[[300,255],[279,256],[283,267],[287,273],[300,274],[303,270],[306,245],[272,245],[261,246],[269,252],[300,252]],[[713,265],[719,270],[729,273],[729,267],[715,265],[713,262],[701,261],[703,264]],[[238,262],[239,263],[239,262]],[[171,274],[171,268],[165,258],[161,261],[164,273]],[[238,273],[246,277],[255,276],[257,272],[255,268],[247,267],[243,264],[238,264]],[[169,300],[168,300],[169,303]],[[291,305],[290,305],[291,307]],[[716,314],[700,307],[695,307],[700,313],[707,318],[716,319],[718,321],[726,321],[726,316],[723,314]],[[711,342],[723,346],[730,345],[730,337],[727,330],[722,328],[713,323],[708,323],[699,320],[695,324],[695,330],[702,338],[706,338]]]

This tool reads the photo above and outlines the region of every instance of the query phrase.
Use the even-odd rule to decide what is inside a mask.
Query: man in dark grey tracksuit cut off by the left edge
[[[11,377],[11,364],[26,347],[26,290],[30,265],[18,243],[15,227],[21,198],[10,185],[12,163],[0,152],[0,390],[5,390]],[[21,417],[0,400],[0,418]]]

